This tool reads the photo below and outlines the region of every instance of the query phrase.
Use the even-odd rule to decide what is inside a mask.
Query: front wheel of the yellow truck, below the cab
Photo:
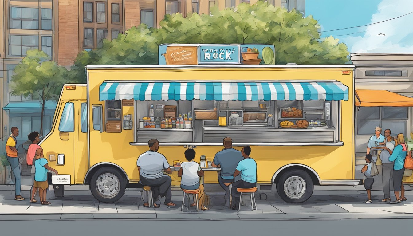
[[[103,167],[93,174],[89,187],[97,200],[103,203],[114,203],[125,194],[126,178],[115,168]]]

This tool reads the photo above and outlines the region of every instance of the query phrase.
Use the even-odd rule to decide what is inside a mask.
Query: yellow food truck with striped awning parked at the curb
[[[225,137],[237,150],[252,147],[259,189],[275,185],[286,202],[304,202],[314,185],[360,184],[354,66],[276,66],[268,59],[265,64],[87,66],[86,84],[64,85],[52,130],[40,143],[59,172],[50,180],[55,194],[64,185],[89,184],[97,200],[119,200],[126,186],[138,184],[136,161],[152,138],[159,140],[159,153],[171,169],[194,148],[206,189],[219,187],[219,168],[211,162]],[[172,186],[180,185],[176,169]]]

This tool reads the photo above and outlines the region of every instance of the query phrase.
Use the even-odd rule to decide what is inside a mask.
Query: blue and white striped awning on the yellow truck
[[[340,82],[104,82],[99,100],[348,100]]]

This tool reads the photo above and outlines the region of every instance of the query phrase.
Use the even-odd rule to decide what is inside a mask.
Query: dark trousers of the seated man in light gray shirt
[[[152,187],[152,194],[156,204],[159,203],[159,195],[165,197],[165,203],[172,202],[171,182],[172,179],[168,175],[161,176],[156,179],[145,179],[140,176],[139,180],[142,185]]]

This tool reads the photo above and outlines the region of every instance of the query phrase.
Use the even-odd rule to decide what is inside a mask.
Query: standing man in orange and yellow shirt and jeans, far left
[[[20,165],[19,165],[19,157],[17,157],[17,149],[16,144],[17,140],[16,137],[19,136],[19,129],[17,127],[11,128],[12,135],[7,139],[6,142],[6,153],[7,153],[7,160],[10,162],[10,167],[12,168],[12,172],[15,177],[14,181],[14,200],[22,201],[24,198],[20,195],[21,189],[21,172],[20,172]]]

